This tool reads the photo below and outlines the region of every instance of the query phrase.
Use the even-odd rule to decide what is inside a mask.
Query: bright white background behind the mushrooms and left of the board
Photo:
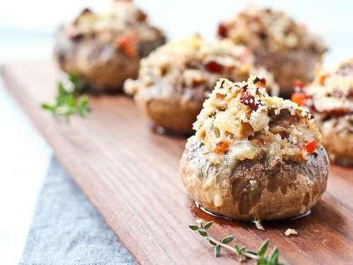
[[[104,10],[111,1],[11,0],[0,3],[0,63],[52,57],[52,36],[84,7]],[[136,3],[170,39],[194,32],[212,40],[220,20],[249,1],[157,1]],[[325,64],[353,56],[353,1],[251,1],[289,13],[321,33],[330,47]],[[0,264],[18,264],[37,194],[52,151],[0,83]]]

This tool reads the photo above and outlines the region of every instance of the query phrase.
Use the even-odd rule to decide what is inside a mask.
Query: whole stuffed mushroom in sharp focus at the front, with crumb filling
[[[180,162],[191,198],[237,220],[291,218],[325,192],[329,161],[312,115],[265,81],[218,81]]]

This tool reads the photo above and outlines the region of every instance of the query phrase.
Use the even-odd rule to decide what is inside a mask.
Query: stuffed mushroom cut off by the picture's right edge
[[[297,82],[292,101],[309,107],[323,134],[331,160],[353,165],[353,58],[336,69],[317,69],[304,86]]]

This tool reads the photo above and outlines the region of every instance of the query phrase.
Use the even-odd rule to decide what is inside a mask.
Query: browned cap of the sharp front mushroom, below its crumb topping
[[[181,180],[191,198],[208,211],[236,220],[275,220],[309,211],[325,192],[328,157],[318,146],[306,163],[270,164],[263,156],[222,168],[205,159],[201,142],[186,148]]]

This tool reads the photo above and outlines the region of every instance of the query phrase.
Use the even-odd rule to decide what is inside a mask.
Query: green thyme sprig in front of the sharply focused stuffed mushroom
[[[202,237],[205,237],[211,245],[215,247],[215,257],[220,257],[221,247],[229,250],[230,252],[235,252],[238,256],[240,262],[246,261],[248,259],[253,259],[256,261],[256,265],[280,265],[278,261],[279,250],[278,247],[274,247],[270,254],[266,255],[268,250],[269,240],[263,241],[263,244],[258,249],[258,251],[252,251],[246,249],[246,247],[240,247],[239,245],[227,245],[234,240],[234,235],[227,235],[222,237],[220,240],[216,240],[214,237],[208,234],[208,229],[213,225],[213,221],[203,224],[202,220],[197,221],[198,225],[189,225],[191,230],[197,231]]]

